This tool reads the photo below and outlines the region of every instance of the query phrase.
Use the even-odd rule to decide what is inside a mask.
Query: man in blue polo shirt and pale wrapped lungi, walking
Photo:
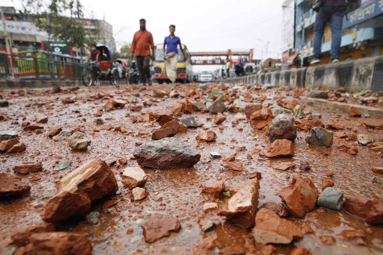
[[[164,40],[164,48],[162,49],[162,53],[164,54],[165,64],[162,69],[162,74],[166,74],[169,77],[172,84],[175,84],[175,79],[177,78],[177,61],[178,61],[178,49],[177,46],[180,46],[183,57],[185,58],[185,62],[187,61],[187,56],[185,51],[183,51],[181,40],[179,37],[174,35],[175,26],[169,26],[170,35],[165,37]],[[166,54],[165,54],[165,46]]]

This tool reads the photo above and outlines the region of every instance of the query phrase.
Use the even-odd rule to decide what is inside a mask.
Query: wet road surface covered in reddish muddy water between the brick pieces
[[[217,247],[213,248],[210,254],[217,254],[220,249],[232,245],[244,247],[245,250],[254,246],[255,250],[261,247],[256,245],[250,237],[251,230],[242,229],[230,221],[226,221],[223,217],[217,216],[216,211],[203,212],[204,203],[218,202],[219,206],[223,206],[228,199],[222,196],[216,199],[201,194],[201,186],[204,183],[221,180],[228,188],[248,180],[246,173],[223,168],[220,165],[222,159],[211,159],[211,151],[219,152],[222,158],[237,153],[237,162],[241,162],[249,172],[257,171],[262,174],[259,204],[268,201],[280,203],[281,199],[277,193],[281,188],[290,185],[293,176],[311,178],[319,191],[321,191],[322,180],[328,179],[334,181],[334,188],[342,191],[345,196],[375,195],[379,199],[383,199],[382,176],[371,171],[372,167],[383,165],[383,159],[379,158],[379,154],[372,154],[366,147],[354,144],[355,141],[342,139],[346,144],[358,148],[357,155],[349,155],[336,149],[334,145],[330,148],[321,148],[306,144],[305,139],[308,132],[298,129],[293,158],[267,159],[259,155],[259,151],[266,150],[270,145],[265,131],[254,129],[250,122],[246,121],[246,116],[243,113],[225,112],[226,121],[217,126],[213,124],[214,116],[210,113],[193,112],[192,114],[183,114],[180,118],[195,116],[196,121],[204,123],[204,126],[188,129],[188,132],[179,133],[175,137],[199,152],[201,154],[200,161],[194,168],[188,169],[160,171],[144,168],[148,174],[145,188],[149,191],[149,196],[143,201],[132,202],[131,191],[121,183],[121,172],[126,166],[120,166],[118,159],[128,159],[128,167],[137,166],[136,160],[131,159],[134,148],[137,143],[152,141],[149,135],[138,136],[137,132],[148,130],[151,134],[154,129],[159,127],[157,123],[152,121],[132,123],[132,119],[139,119],[141,112],[171,113],[173,104],[185,100],[184,98],[167,98],[159,102],[152,102],[152,106],[144,107],[141,112],[128,110],[129,105],[135,105],[136,102],[137,105],[141,105],[141,100],[150,101],[152,89],[159,88],[159,86],[155,85],[150,91],[141,92],[138,90],[126,92],[126,86],[120,88],[105,86],[66,94],[45,93],[43,89],[25,96],[12,95],[10,94],[11,90],[4,90],[1,93],[3,98],[11,103],[8,108],[0,108],[0,114],[10,119],[1,122],[1,130],[14,129],[18,131],[20,141],[27,145],[27,149],[25,152],[3,154],[0,171],[13,173],[11,169],[16,163],[32,160],[42,162],[44,169],[37,173],[19,175],[23,181],[31,186],[29,195],[0,201],[0,214],[2,215],[0,217],[0,251],[2,254],[10,254],[14,250],[15,247],[8,245],[8,243],[10,242],[10,234],[15,229],[27,224],[41,222],[39,214],[43,211],[43,206],[48,199],[56,193],[56,182],[75,168],[94,158],[105,160],[108,163],[117,160],[111,169],[115,173],[121,194],[92,203],[92,211],[100,212],[99,223],[96,225],[87,223],[85,217],[76,217],[57,224],[57,230],[87,234],[92,241],[94,254],[191,254],[193,248],[208,235],[217,237],[219,241]],[[186,93],[187,89],[193,87],[195,85],[185,85],[179,91]],[[164,85],[163,88],[169,89],[169,86]],[[90,100],[90,96],[97,95],[101,91],[113,95],[114,98],[122,98],[128,103],[123,109],[104,112],[101,117],[95,117],[93,113],[102,108],[107,99]],[[242,92],[244,91],[242,90]],[[136,93],[139,93],[140,96],[134,96]],[[291,96],[286,95],[286,92],[276,88],[265,92],[253,92],[253,94],[255,98],[262,95],[267,96],[264,106],[267,103],[275,103],[275,98],[281,95],[292,99]],[[70,96],[76,96],[77,103],[64,105],[59,100],[59,98]],[[240,101],[242,99],[239,96],[239,100],[234,101],[234,104],[243,107],[246,103]],[[376,141],[383,139],[381,130],[366,129],[363,125],[355,126],[355,123],[363,121],[363,117],[348,117],[348,108],[345,106],[339,107],[321,102],[308,103],[308,99],[297,100],[306,105],[306,110],[322,114],[321,121],[325,124],[332,120],[345,123],[349,129],[340,131],[344,131],[347,136],[368,133]],[[27,107],[28,104],[31,106]],[[52,109],[47,109],[46,104],[52,106]],[[383,114],[376,111],[370,111],[369,114],[372,117],[383,118]],[[43,133],[23,131],[21,127],[23,121],[34,123],[34,119],[44,116],[49,116],[49,120],[44,124]],[[23,120],[24,117],[26,119]],[[103,119],[104,123],[96,124],[94,122],[96,118]],[[232,121],[237,119],[241,119],[239,124],[232,125]],[[52,141],[51,138],[44,136],[44,133],[52,126],[59,126],[64,130],[80,128],[80,131],[83,131],[92,140],[88,151],[73,152],[66,141]],[[109,126],[127,128],[131,130],[131,133],[113,132],[113,129],[108,130]],[[224,126],[224,128],[221,130],[220,126]],[[205,129],[212,130],[217,134],[218,138],[215,142],[196,141],[195,136],[205,132]],[[334,130],[334,132],[337,131]],[[68,168],[52,171],[55,162],[70,159],[73,161]],[[303,160],[310,163],[311,170],[300,172],[299,165]],[[271,165],[277,162],[293,162],[296,167],[293,170],[282,172],[272,168]],[[334,175],[327,177],[328,172],[332,172]],[[41,178],[36,178],[36,176]],[[373,176],[377,179],[376,183],[370,181],[370,177]],[[118,203],[111,208],[103,208],[103,203],[110,199],[116,199]],[[172,233],[169,237],[159,239],[152,244],[146,243],[142,235],[141,224],[154,213],[171,214],[177,217],[181,222],[182,229],[180,232]],[[202,219],[212,219],[219,224],[211,232],[204,234],[198,224],[198,221]],[[306,223],[314,232],[305,234],[303,239],[296,240],[289,245],[274,245],[277,248],[277,253],[289,254],[294,247],[310,248],[314,254],[383,253],[382,226],[365,224],[364,221],[351,216],[343,209],[340,212],[334,212],[316,207],[313,211],[306,213],[302,219],[292,217],[288,219],[298,226]],[[366,234],[366,244],[356,245],[352,240],[346,240],[340,235],[346,229],[363,230]],[[328,237],[332,243],[324,244],[321,237]]]

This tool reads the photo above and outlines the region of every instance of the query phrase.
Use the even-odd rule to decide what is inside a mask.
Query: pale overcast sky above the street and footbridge
[[[2,0],[3,6],[20,8],[20,0]],[[169,25],[175,35],[193,51],[254,49],[254,59],[281,57],[283,0],[80,0],[85,18],[103,19],[113,25],[117,49],[130,42],[139,30],[139,19],[154,44],[163,43]],[[263,41],[260,41],[260,40]],[[200,69],[200,68],[198,68]]]

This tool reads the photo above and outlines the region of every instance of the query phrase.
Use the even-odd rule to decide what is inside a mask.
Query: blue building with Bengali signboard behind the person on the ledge
[[[286,2],[286,1],[285,1]],[[312,0],[295,0],[294,52],[283,51],[287,68],[306,66],[313,58],[314,24],[316,12]],[[285,6],[285,5],[284,5]],[[287,8],[287,7],[282,7]],[[339,60],[359,59],[383,54],[383,0],[350,2],[343,17]],[[283,12],[285,14],[285,12]],[[290,15],[291,16],[291,15]],[[321,64],[330,63],[331,29],[324,29]]]

